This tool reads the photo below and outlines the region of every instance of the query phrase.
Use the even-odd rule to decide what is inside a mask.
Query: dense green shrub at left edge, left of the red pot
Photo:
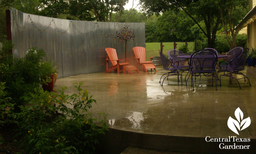
[[[43,49],[30,48],[24,58],[12,58],[8,52],[12,47],[11,41],[5,41],[0,49],[0,82],[5,82],[6,95],[19,106],[24,104],[24,96],[49,82],[50,77],[45,76],[55,73],[56,69],[53,63],[43,62],[46,56]]]

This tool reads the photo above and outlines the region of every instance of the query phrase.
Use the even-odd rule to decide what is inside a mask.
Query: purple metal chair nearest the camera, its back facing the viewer
[[[198,50],[191,55],[190,58],[190,74],[191,74],[191,84],[194,89],[194,79],[193,76],[204,75],[206,77],[212,76],[212,86],[213,86],[213,77],[215,78],[215,86],[217,90],[217,80],[216,80],[216,71],[215,67],[218,61],[217,53],[213,50],[203,49]],[[209,81],[209,80],[200,80],[200,81]]]

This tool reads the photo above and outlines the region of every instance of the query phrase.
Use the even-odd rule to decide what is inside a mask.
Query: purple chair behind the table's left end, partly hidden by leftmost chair
[[[189,70],[189,66],[185,65],[187,62],[187,59],[186,58],[177,58],[177,56],[185,55],[183,52],[181,52],[180,50],[177,50],[177,49],[171,49],[168,51],[168,55],[172,61],[172,67],[181,67],[180,68],[180,71],[182,71],[181,74],[184,71]],[[187,73],[187,75],[188,75],[188,73]],[[186,75],[186,77],[187,77],[187,75]],[[185,81],[186,81],[186,77],[185,77]]]

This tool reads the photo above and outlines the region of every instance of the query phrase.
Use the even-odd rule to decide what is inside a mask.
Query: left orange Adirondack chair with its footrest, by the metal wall
[[[116,49],[106,48],[105,50],[108,54],[108,57],[106,58],[106,67],[107,67],[106,71],[105,71],[106,73],[109,73],[112,70],[114,70],[117,73],[124,71],[124,74],[125,74],[126,70],[131,74],[133,74],[132,70],[135,70],[138,73],[140,73],[139,70],[135,66],[129,64],[130,59],[118,59],[117,54],[116,54]],[[119,62],[120,60],[125,60],[125,62],[120,63]],[[108,68],[109,61],[111,61],[111,63],[112,63],[112,66],[110,68]]]

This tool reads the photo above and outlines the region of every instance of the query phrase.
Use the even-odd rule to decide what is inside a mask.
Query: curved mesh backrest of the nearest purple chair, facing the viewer
[[[215,71],[218,55],[213,50],[203,49],[194,52],[190,58],[191,70],[198,73]]]

